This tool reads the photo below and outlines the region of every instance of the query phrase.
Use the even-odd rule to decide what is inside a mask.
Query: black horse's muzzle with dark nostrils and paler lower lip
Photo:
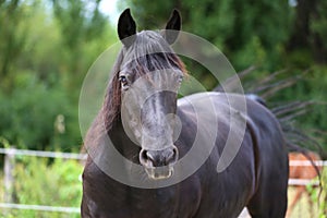
[[[173,174],[173,165],[178,161],[178,148],[171,146],[161,150],[142,149],[140,162],[145,167],[149,179],[168,179]]]

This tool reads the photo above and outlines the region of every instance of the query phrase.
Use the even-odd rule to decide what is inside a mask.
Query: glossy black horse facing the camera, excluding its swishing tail
[[[242,95],[178,99],[186,71],[169,45],[180,27],[175,10],[162,32],[136,33],[130,10],[121,14],[123,48],[85,138],[82,217],[229,218],[244,207],[252,217],[284,217],[288,150],[278,120]]]

